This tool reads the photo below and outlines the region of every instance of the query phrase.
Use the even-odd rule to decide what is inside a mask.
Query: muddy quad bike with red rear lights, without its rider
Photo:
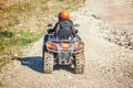
[[[54,65],[74,65],[75,74],[84,73],[84,43],[79,35],[59,40],[48,33],[48,41],[43,44],[43,72],[51,74]]]

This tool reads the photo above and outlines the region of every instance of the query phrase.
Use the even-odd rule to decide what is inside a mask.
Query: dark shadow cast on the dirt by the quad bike
[[[43,62],[41,56],[35,56],[35,57],[23,57],[19,58],[21,62],[21,65],[28,66],[29,68],[38,72],[38,73],[43,73]],[[74,69],[71,66],[58,66],[54,65],[53,72],[64,69],[70,73],[74,73]]]

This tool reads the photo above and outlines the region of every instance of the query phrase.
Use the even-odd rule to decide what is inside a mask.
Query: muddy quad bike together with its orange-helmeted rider
[[[51,26],[52,24],[48,25]],[[68,11],[59,13],[59,22],[45,34],[42,58],[43,73],[51,74],[57,66],[74,66],[75,74],[83,74],[85,66],[84,43],[76,34],[78,25],[70,20]]]

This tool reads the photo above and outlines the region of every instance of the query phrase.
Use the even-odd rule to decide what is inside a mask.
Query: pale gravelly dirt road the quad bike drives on
[[[72,13],[85,44],[83,75],[75,75],[68,67],[43,74],[41,38],[24,59],[16,62],[2,88],[133,88],[133,52],[99,37],[100,24],[104,22],[88,13],[86,8]]]

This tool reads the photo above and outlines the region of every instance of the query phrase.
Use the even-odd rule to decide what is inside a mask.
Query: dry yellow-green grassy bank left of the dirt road
[[[66,9],[76,10],[84,0],[23,0],[0,6],[0,68],[22,54],[22,48],[42,37],[48,23]],[[4,4],[4,0],[0,1]]]

